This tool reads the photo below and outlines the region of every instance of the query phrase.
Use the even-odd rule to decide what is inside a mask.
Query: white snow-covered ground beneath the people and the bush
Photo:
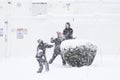
[[[97,55],[89,67],[62,66],[60,56],[50,65],[50,71],[36,73],[38,63],[34,57],[0,60],[0,80],[120,80],[120,57]]]

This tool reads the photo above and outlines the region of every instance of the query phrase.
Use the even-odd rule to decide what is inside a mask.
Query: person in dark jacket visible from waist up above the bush
[[[73,29],[70,27],[70,23],[66,23],[66,28],[63,30],[63,35],[65,39],[73,39]]]

